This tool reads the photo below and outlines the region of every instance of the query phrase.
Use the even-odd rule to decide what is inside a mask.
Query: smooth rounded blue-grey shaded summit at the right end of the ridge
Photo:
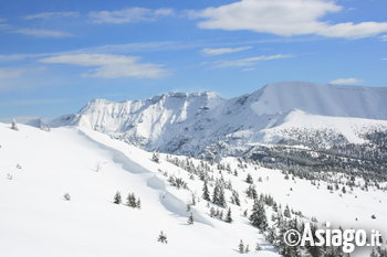
[[[253,93],[258,115],[300,109],[308,114],[387,119],[387,88],[311,83],[270,84]]]

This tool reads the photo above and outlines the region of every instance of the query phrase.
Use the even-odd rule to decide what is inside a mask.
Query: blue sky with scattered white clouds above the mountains
[[[0,117],[87,100],[268,83],[387,86],[385,0],[13,0],[0,9]]]

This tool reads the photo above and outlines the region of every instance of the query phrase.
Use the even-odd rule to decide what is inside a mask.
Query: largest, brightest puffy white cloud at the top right
[[[191,11],[205,19],[201,29],[249,30],[283,36],[317,34],[333,38],[366,38],[387,32],[387,22],[332,24],[321,19],[343,10],[327,0],[241,0],[218,8]]]

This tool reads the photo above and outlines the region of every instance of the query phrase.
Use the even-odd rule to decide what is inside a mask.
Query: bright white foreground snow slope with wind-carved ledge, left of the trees
[[[106,135],[23,125],[14,131],[0,124],[0,146],[1,256],[231,257],[239,255],[241,238],[251,247],[263,243],[237,214],[233,224],[210,218],[206,202],[199,202],[199,179],[191,181],[180,168],[156,163],[151,153]],[[164,172],[182,178],[197,193],[194,225],[187,224],[186,211],[192,192],[169,185]],[[117,191],[121,205],[113,203]],[[140,197],[140,210],[124,204],[128,193]],[[160,231],[167,245],[157,242]]]

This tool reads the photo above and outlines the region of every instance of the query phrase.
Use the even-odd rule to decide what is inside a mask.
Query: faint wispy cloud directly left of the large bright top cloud
[[[93,11],[88,13],[93,23],[133,23],[142,21],[155,21],[161,17],[174,14],[172,9],[146,9],[128,8],[116,11]]]

